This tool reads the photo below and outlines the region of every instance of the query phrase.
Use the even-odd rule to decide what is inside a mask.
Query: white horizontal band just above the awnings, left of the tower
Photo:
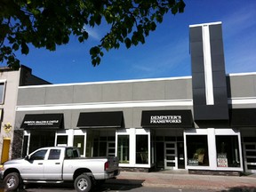
[[[97,102],[56,105],[28,105],[17,106],[16,111],[37,110],[72,110],[86,108],[144,108],[144,107],[167,107],[167,106],[193,106],[193,100],[147,100],[147,101],[124,101],[124,102]]]

